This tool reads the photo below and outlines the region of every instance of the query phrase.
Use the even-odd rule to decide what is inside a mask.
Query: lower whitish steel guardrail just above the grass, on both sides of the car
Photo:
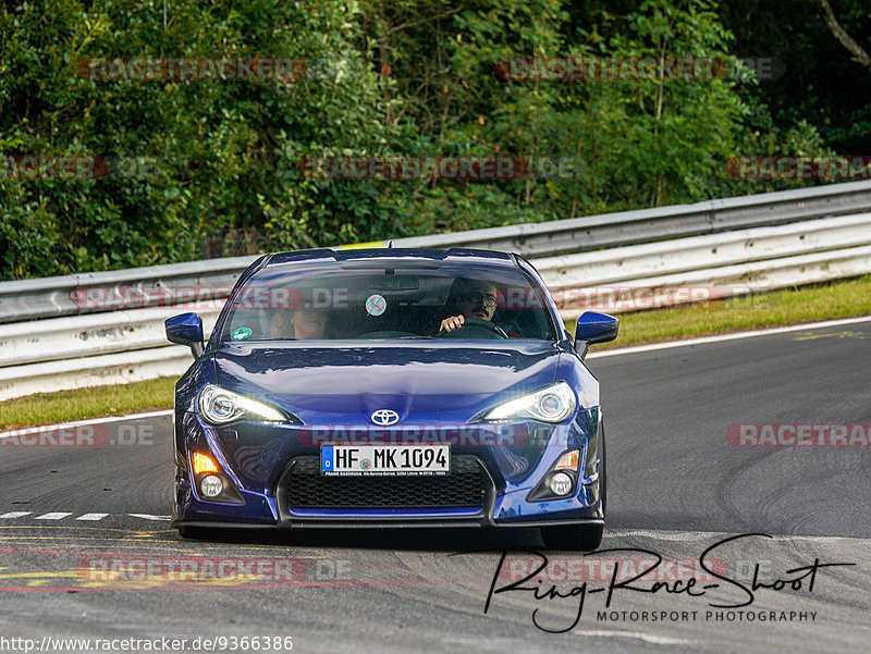
[[[659,304],[679,304],[679,298],[655,293],[662,288],[707,288],[712,296],[694,299],[720,299],[871,273],[871,213],[533,259],[532,263],[566,319],[589,308],[610,312],[640,308],[641,297],[653,297],[653,306],[658,297],[664,298]],[[188,309],[157,306],[0,325],[0,400],[180,375],[191,365],[191,353],[165,341],[163,320],[184,310]],[[200,311],[207,330],[218,312],[217,305]]]

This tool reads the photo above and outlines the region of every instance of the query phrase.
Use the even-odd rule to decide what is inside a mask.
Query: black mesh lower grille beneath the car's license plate
[[[451,457],[441,477],[323,477],[316,456],[293,459],[285,477],[294,508],[471,507],[484,504],[490,480],[478,457]]]

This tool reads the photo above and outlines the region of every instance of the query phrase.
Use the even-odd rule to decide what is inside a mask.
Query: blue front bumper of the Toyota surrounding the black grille
[[[310,527],[544,527],[602,525],[599,490],[599,411],[579,411],[568,424],[535,429],[516,443],[452,443],[452,456],[481,461],[486,496],[475,507],[298,507],[286,497],[286,477],[294,457],[311,457],[319,445],[306,442],[299,428],[256,423],[214,429],[195,414],[176,424],[174,527],[296,529]],[[468,425],[466,425],[468,427]],[[540,430],[540,425],[537,425]],[[294,431],[295,430],[295,431]],[[565,498],[528,502],[527,497],[566,449],[582,451],[580,481]],[[189,470],[192,451],[209,451],[242,495],[243,504],[201,498]],[[340,478],[341,479],[341,478]]]

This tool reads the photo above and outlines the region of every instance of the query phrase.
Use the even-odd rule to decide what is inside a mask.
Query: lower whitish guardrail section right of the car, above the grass
[[[694,287],[710,299],[812,284],[871,272],[864,249],[871,245],[871,213],[739,230],[535,261],[566,319],[577,318],[578,300],[615,296],[633,288]],[[789,275],[784,276],[786,270]],[[775,275],[775,271],[777,274]],[[600,288],[596,294],[591,289]],[[590,306],[590,305],[588,305]],[[611,312],[638,304],[592,305]]]

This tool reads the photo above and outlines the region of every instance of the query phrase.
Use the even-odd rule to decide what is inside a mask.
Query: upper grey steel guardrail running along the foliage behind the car
[[[474,247],[514,251],[529,259],[548,258],[868,210],[871,210],[871,181],[862,181],[695,205],[400,238],[394,245],[433,249]],[[381,245],[387,244],[375,244]],[[209,288],[222,299],[253,260],[254,257],[234,257],[2,282],[0,323],[165,305],[168,297],[163,291],[168,288]],[[88,301],[88,293],[94,289],[99,289],[103,301],[93,305]]]

